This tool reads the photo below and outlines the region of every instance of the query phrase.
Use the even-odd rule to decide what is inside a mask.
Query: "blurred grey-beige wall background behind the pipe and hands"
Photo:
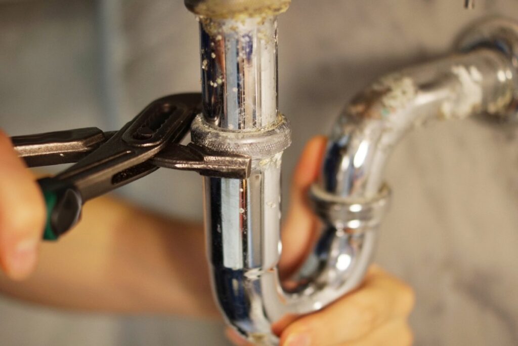
[[[284,192],[305,142],[327,133],[355,92],[450,52],[467,24],[490,15],[518,20],[518,1],[465,10],[463,0],[295,0],[279,18],[280,108],[294,134]],[[114,130],[158,96],[198,89],[198,27],[181,0],[0,0],[0,127],[10,135]],[[377,261],[416,290],[416,345],[518,344],[517,135],[440,122],[390,160],[394,200]],[[119,194],[202,217],[194,173],[162,169]],[[7,297],[0,316],[1,345],[228,344],[221,323],[174,316],[63,313]]]

